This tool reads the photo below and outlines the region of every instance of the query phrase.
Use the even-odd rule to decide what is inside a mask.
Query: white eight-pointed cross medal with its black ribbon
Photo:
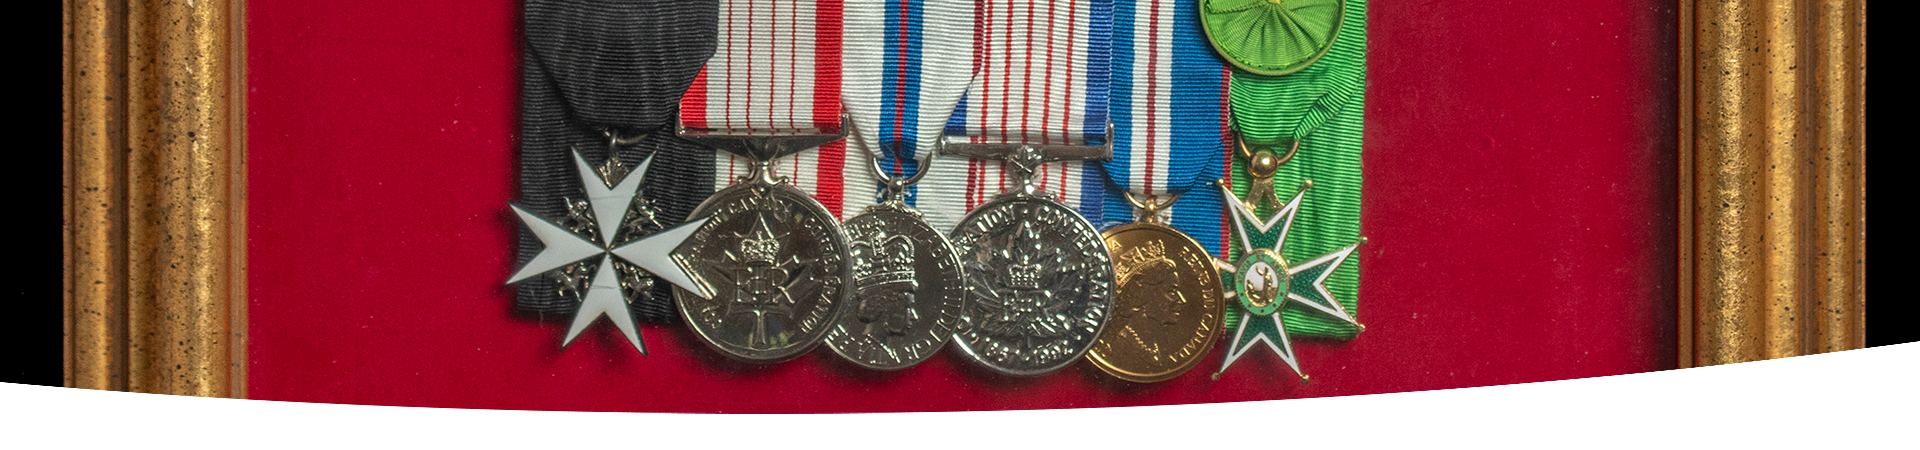
[[[714,6],[526,2],[511,204],[524,229],[507,283],[515,310],[572,317],[563,348],[605,315],[645,356],[637,323],[672,321],[668,285],[697,288],[668,252],[703,225],[682,223],[699,200],[685,179],[710,160],[666,127],[712,54]]]

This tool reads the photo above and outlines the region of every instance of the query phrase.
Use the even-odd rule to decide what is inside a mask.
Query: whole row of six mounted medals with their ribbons
[[[1365,2],[526,8],[507,283],[572,313],[563,346],[607,315],[645,354],[636,323],[678,319],[753,363],[826,342],[893,371],[950,342],[1004,375],[1154,383],[1229,337],[1213,379],[1265,344],[1304,383],[1290,329],[1359,329],[1329,288],[1357,242],[1286,244],[1302,162],[1352,160],[1357,192],[1357,125],[1331,131],[1346,150],[1308,137],[1359,113],[1363,52],[1340,48]]]

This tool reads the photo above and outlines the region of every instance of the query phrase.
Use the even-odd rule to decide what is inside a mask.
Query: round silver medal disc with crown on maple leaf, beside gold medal
[[[950,235],[966,265],[968,304],[954,344],[1008,375],[1068,367],[1100,337],[1114,308],[1114,263],[1100,231],[1039,196],[1002,196]]]

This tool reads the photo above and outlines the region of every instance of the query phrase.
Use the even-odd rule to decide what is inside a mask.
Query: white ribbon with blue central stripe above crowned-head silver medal
[[[847,0],[845,38],[841,102],[856,154],[849,165],[877,158],[891,177],[918,173],[973,77],[973,0]],[[849,202],[877,196],[881,185],[864,167],[845,173],[849,190],[868,187],[864,198],[847,192]],[[908,188],[906,204],[918,204],[918,190]]]

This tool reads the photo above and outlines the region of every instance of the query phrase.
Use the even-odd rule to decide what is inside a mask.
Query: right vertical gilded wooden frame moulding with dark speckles
[[[1866,2],[1680,2],[1678,367],[1866,348]]]

